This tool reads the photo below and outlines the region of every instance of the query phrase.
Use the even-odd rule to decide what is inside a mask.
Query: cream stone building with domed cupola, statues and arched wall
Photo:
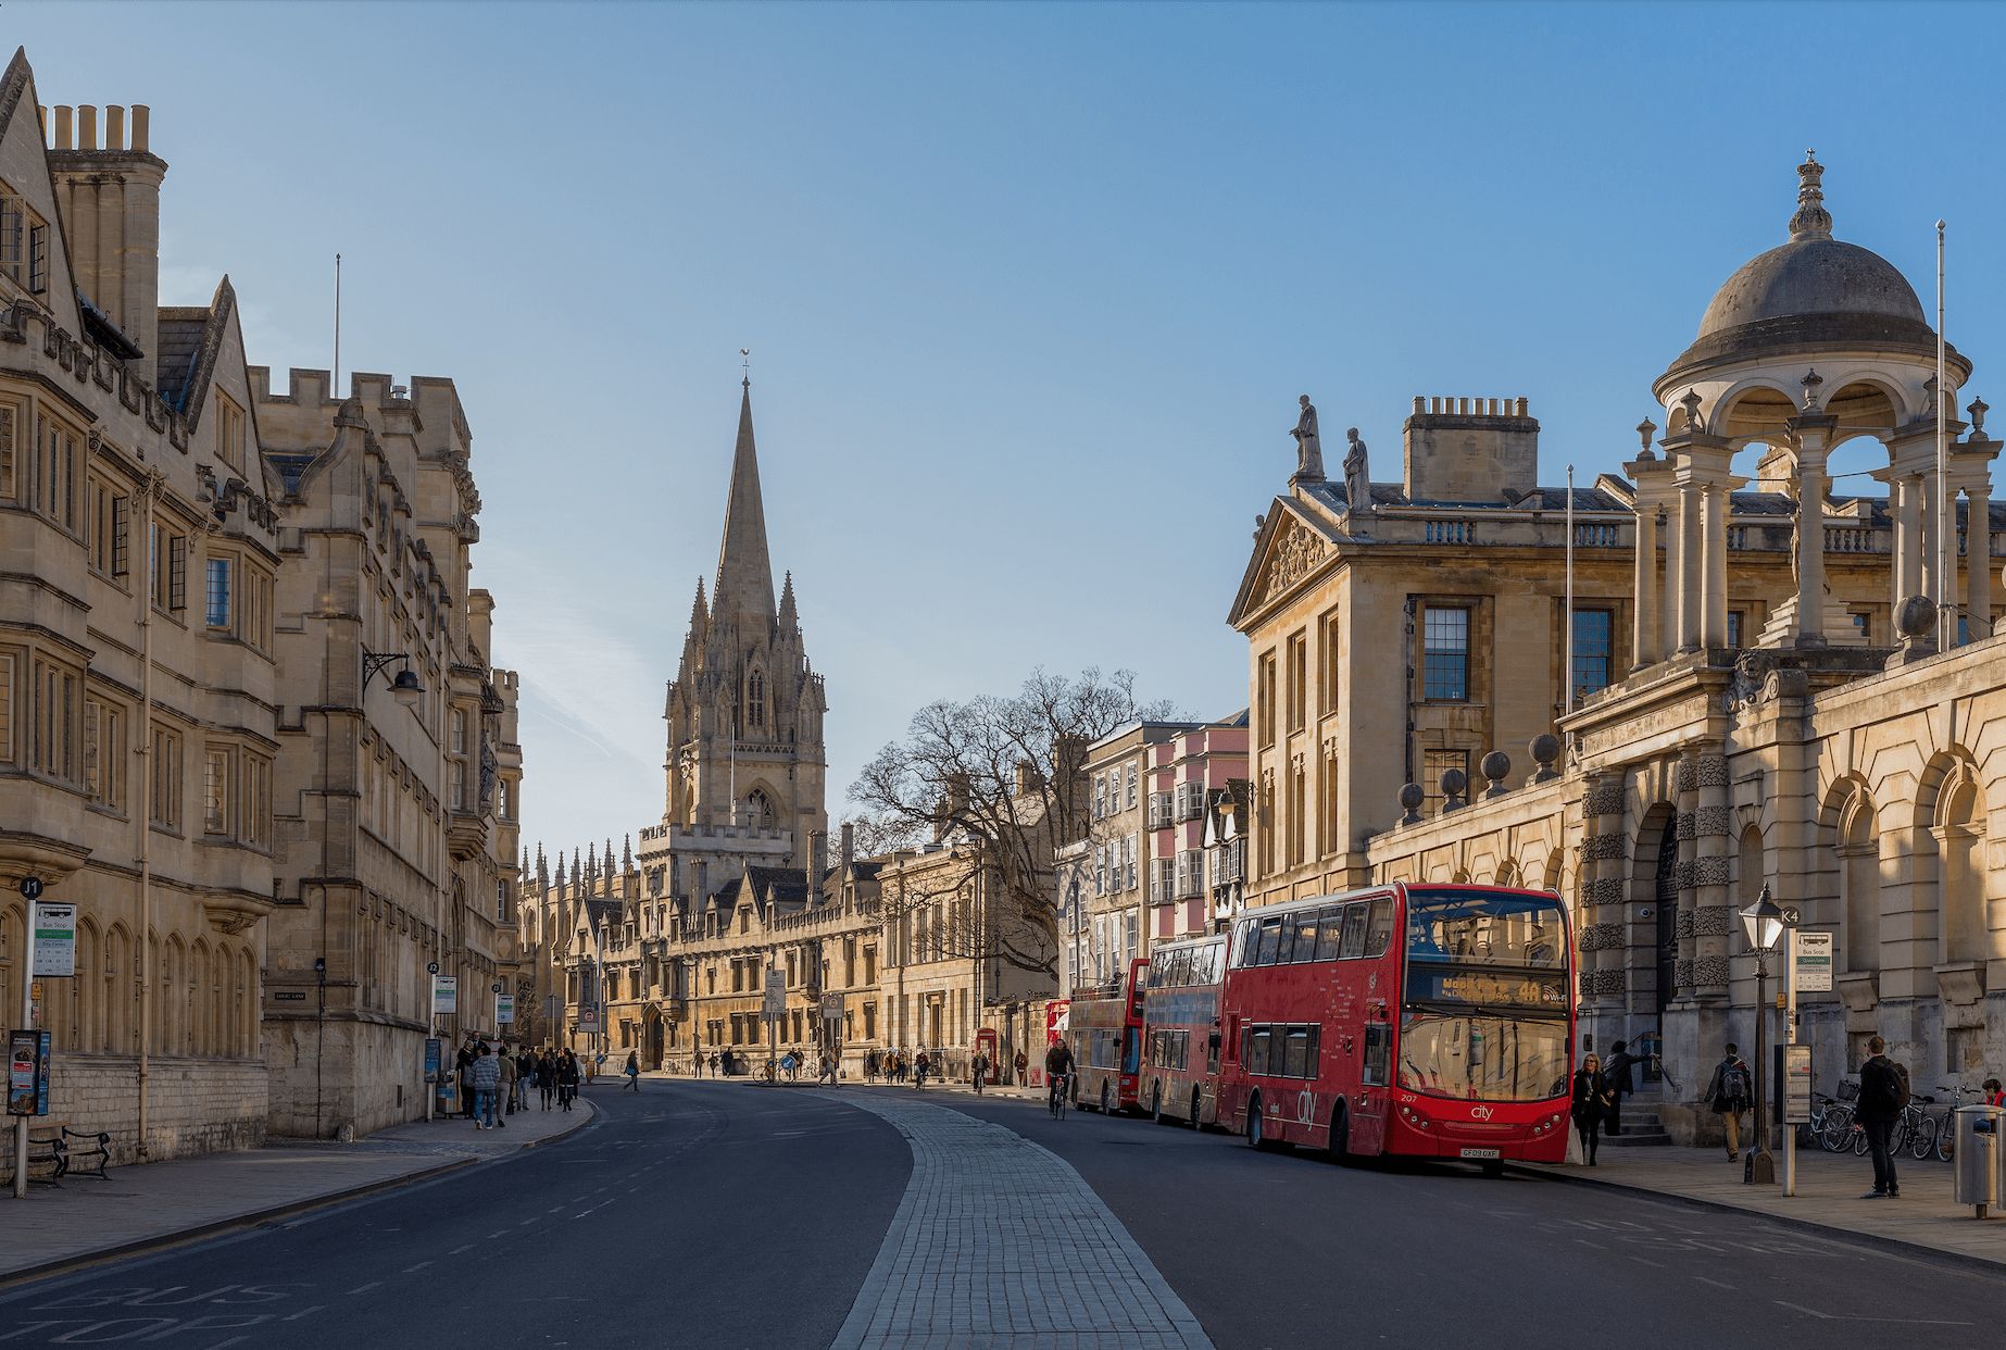
[[[1831,237],[1821,173],[1799,168],[1789,241],[1729,279],[1655,381],[1663,441],[1577,501],[1595,508],[1585,522],[1577,512],[1577,530],[1609,532],[1575,540],[1577,606],[1611,612],[1595,678],[1579,664],[1573,688],[1561,678],[1565,536],[1539,489],[1535,518],[1500,508],[1486,526],[1486,512],[1410,499],[1374,501],[1370,520],[1348,501],[1330,516],[1300,503],[1334,493],[1298,481],[1236,610],[1254,638],[1252,889],[1559,889],[1581,945],[1587,1043],[1663,1047],[1669,1081],[1649,1091],[1683,1141],[1713,1137],[1693,1095],[1721,1043],[1755,1043],[1755,959],[1735,909],[1765,885],[1835,935],[1835,989],[1807,997],[1799,1033],[1821,1087],[1856,1069],[1876,1033],[1924,1091],[1974,1087],[2006,1059],[2006,885],[1984,845],[1990,798],[2006,790],[1992,732],[2006,698],[1992,636],[1998,443],[1976,425],[1982,401],[1970,427],[1948,403],[1938,473],[1936,335],[1894,267]],[[1954,349],[1946,365],[1954,399],[1972,367]],[[1886,445],[1890,497],[1829,495],[1825,455],[1856,437]],[[1482,437],[1470,443],[1462,453],[1482,457]],[[1410,461],[1414,449],[1410,437]],[[1737,455],[1759,457],[1755,493],[1737,491]],[[1797,508],[1813,501],[1805,524]],[[1372,578],[1384,544],[1452,538],[1426,532],[1454,524],[1460,546],[1424,572]],[[1468,644],[1438,622],[1430,632],[1440,610],[1468,616]],[[1408,678],[1378,668],[1400,702],[1370,694],[1362,648],[1384,632],[1408,636]],[[1328,666],[1300,660],[1298,642],[1330,652]],[[1515,678],[1476,674],[1484,662]],[[1386,722],[1406,728],[1408,754],[1374,732]],[[1424,800],[1430,732],[1488,788],[1450,778],[1438,804]],[[1304,784],[1330,782],[1310,766],[1332,742],[1342,762],[1318,800]],[[1504,752],[1529,742],[1533,772]],[[1330,820],[1328,845],[1304,814]]]

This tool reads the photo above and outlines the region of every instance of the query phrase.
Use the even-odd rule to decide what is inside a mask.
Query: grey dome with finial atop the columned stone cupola
[[[1671,363],[1661,385],[1703,377],[1709,367],[1819,351],[1936,361],[1936,331],[1908,279],[1878,253],[1831,237],[1823,173],[1807,152],[1797,164],[1789,243],[1727,279],[1699,321],[1697,341]],[[1954,361],[1968,371],[1962,357]]]

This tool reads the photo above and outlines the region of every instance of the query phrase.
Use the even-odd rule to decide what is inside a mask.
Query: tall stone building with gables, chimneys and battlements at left
[[[395,953],[461,941],[514,871],[445,840],[449,702],[493,732],[491,776],[520,778],[514,676],[465,588],[451,385],[411,401],[359,377],[337,405],[295,371],[275,397],[229,279],[160,307],[150,132],[144,106],[40,106],[24,52],[0,76],[0,1005],[20,1019],[34,877],[78,907],[74,975],[34,985],[50,1119],[108,1131],[118,1163],[423,1115],[403,1065],[429,1017]],[[417,710],[391,714],[379,680],[363,712],[365,638],[411,654]],[[387,853],[357,832],[363,746],[403,812]],[[361,943],[369,925],[395,943]],[[351,1009],[369,1053],[341,1049]],[[319,1109],[303,1027],[327,1027]]]

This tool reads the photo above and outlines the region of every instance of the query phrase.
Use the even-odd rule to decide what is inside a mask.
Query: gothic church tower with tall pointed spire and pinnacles
[[[682,664],[668,684],[664,832],[716,838],[730,830],[766,845],[748,865],[812,867],[812,847],[828,830],[824,712],[822,678],[800,640],[792,576],[778,608],[772,600],[748,379],[718,576],[708,606],[702,580],[696,584]],[[784,849],[772,849],[782,840]],[[712,873],[708,881],[714,887],[726,877]]]

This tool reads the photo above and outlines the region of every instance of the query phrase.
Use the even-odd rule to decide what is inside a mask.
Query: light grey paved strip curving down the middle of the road
[[[1212,1350],[1071,1163],[911,1089],[816,1095],[913,1145],[905,1200],[830,1350]]]

